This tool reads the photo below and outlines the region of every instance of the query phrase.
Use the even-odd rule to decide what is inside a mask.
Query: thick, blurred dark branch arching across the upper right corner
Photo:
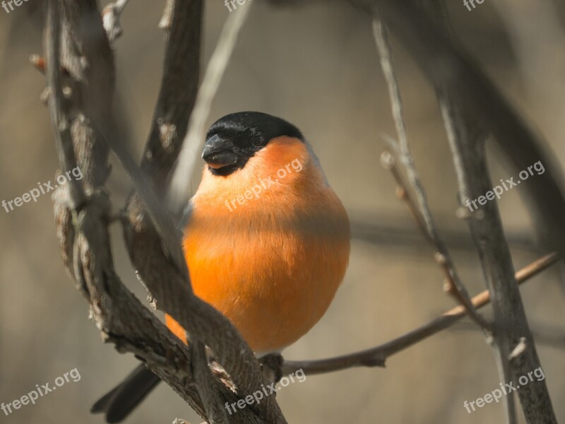
[[[524,170],[541,160],[544,174],[523,189],[542,242],[565,256],[565,189],[555,155],[522,119],[468,51],[419,6],[420,0],[347,0],[371,16],[379,17],[394,31],[434,86],[449,90],[464,107],[465,117],[492,131],[495,141],[514,170]]]

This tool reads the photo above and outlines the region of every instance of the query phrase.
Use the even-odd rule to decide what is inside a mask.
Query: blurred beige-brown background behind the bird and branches
[[[131,126],[136,158],[160,86],[164,35],[157,23],[163,3],[131,1],[121,18],[124,35],[116,44],[119,102]],[[285,357],[325,358],[369,348],[453,307],[443,293],[432,249],[396,199],[391,175],[379,165],[386,147],[381,134],[396,133],[367,16],[333,2],[273,8],[253,0],[238,6],[244,7],[251,7],[251,14],[210,123],[229,112],[259,110],[296,124],[357,228],[350,266],[333,305]],[[487,0],[468,11],[463,1],[454,1],[449,11],[458,39],[547,139],[563,166],[565,6],[550,0]],[[220,1],[206,2],[204,64],[229,13]],[[9,14],[0,9],[0,200],[21,196],[57,172],[49,113],[39,100],[44,77],[28,63],[30,54],[42,51],[41,36],[42,1],[30,0]],[[456,218],[456,177],[434,92],[396,40],[392,44],[417,170],[460,276],[470,293],[478,293],[484,280],[465,222]],[[506,167],[489,146],[492,180],[517,175],[519,170]],[[532,158],[532,164],[537,160]],[[108,188],[119,211],[131,185],[112,161]],[[504,193],[498,204],[514,265],[521,269],[546,252],[535,245],[521,190]],[[74,368],[81,375],[80,381],[71,379],[35,406],[8,416],[0,412],[0,422],[102,423],[102,416],[90,415],[90,406],[137,360],[103,344],[89,321],[87,304],[64,272],[49,195],[10,213],[0,209],[0,234],[0,403],[19,399],[36,384],[53,386]],[[112,235],[122,281],[147,304],[118,225]],[[521,288],[558,420],[565,420],[562,271],[561,265],[554,266]],[[490,316],[489,307],[484,314]],[[482,333],[456,326],[394,355],[384,369],[307,377],[282,389],[278,401],[289,423],[499,423],[504,418],[501,404],[487,404],[471,414],[463,407],[464,401],[498,387],[492,351]],[[160,384],[126,423],[172,423],[175,417],[201,423],[177,394]]]

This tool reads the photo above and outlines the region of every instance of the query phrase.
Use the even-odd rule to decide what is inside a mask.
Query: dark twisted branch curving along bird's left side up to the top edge
[[[238,393],[245,396],[261,387],[263,375],[260,365],[232,323],[192,293],[180,234],[174,232],[170,220],[167,222],[162,202],[155,202],[153,194],[152,187],[159,187],[160,193],[165,192],[169,172],[186,131],[188,114],[194,105],[198,83],[203,2],[191,0],[186,7],[181,1],[175,1],[172,7],[165,72],[141,163],[141,171],[146,172],[152,182],[148,183],[143,173],[136,170],[128,155],[120,151],[119,143],[112,144],[126,169],[131,176],[133,174],[138,189],[127,205],[126,242],[132,262],[150,295],[157,301],[157,307],[177,320],[191,338],[213,349],[218,362],[230,373]],[[203,401],[206,410],[213,411],[215,400]],[[254,410],[260,417],[256,420],[285,423],[273,396],[251,408],[251,411]]]

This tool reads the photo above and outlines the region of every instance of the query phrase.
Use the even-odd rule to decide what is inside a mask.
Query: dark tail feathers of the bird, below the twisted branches
[[[105,413],[107,423],[119,423],[160,381],[157,375],[140,364],[121,384],[98,399],[90,412]]]

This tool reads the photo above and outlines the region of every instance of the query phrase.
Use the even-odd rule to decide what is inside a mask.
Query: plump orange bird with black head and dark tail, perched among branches
[[[182,247],[194,294],[222,312],[257,358],[304,336],[331,305],[350,257],[350,222],[311,144],[263,112],[210,126]],[[184,343],[186,331],[165,315]],[[91,412],[119,423],[160,382],[139,365]]]

